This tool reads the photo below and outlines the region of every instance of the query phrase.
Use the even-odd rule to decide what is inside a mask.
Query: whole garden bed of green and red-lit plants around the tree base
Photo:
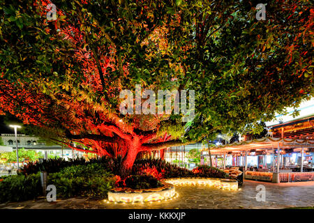
[[[193,171],[177,167],[160,159],[136,160],[132,175],[117,176],[121,159],[82,159],[65,161],[62,159],[30,163],[22,174],[8,176],[0,180],[0,203],[35,199],[42,192],[41,169],[48,171],[48,184],[57,187],[58,197],[89,196],[107,197],[112,187],[148,189],[161,187],[164,178],[208,177],[228,178],[225,172],[215,167],[200,166]],[[36,173],[36,174],[32,174]],[[114,176],[116,174],[116,176]]]

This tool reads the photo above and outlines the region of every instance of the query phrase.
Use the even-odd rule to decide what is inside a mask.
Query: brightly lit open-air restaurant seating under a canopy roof
[[[313,181],[314,139],[264,137],[211,149],[220,157],[220,167],[231,176],[240,174],[248,180],[290,183]],[[227,167],[229,166],[229,167]],[[241,172],[242,173],[242,172]]]

